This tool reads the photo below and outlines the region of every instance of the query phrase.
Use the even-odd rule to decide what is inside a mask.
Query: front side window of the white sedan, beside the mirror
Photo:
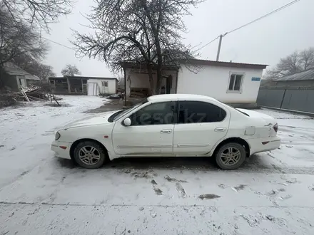
[[[130,116],[131,125],[173,124],[176,102],[152,103]]]

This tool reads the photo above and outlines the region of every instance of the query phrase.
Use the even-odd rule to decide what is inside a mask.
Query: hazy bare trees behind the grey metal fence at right
[[[282,78],[287,75],[300,73],[309,68],[314,68],[314,48],[295,51],[285,58],[281,58],[275,68],[268,70],[268,79]]]

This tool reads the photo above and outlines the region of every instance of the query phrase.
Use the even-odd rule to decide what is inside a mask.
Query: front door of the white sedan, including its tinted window
[[[173,155],[173,127],[176,102],[146,103],[129,115],[130,126],[122,120],[113,127],[117,155]]]

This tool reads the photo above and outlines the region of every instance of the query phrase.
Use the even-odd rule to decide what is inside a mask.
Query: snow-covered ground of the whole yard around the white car
[[[314,120],[278,118],[280,149],[240,169],[203,158],[76,167],[50,150],[61,125],[103,100],[65,96],[0,110],[0,234],[314,234]]]

